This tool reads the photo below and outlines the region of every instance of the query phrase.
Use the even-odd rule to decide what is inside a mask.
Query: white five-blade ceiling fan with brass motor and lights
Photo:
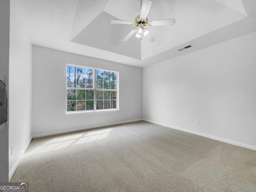
[[[152,1],[151,0],[138,0],[139,5],[141,6],[140,15],[135,18],[135,21],[124,21],[124,20],[111,20],[111,24],[128,24],[134,25],[137,28],[133,29],[122,41],[128,41],[132,37],[132,35],[136,32],[136,37],[141,38],[143,34],[146,38],[148,38],[149,42],[154,42],[155,38],[150,33],[150,31],[145,28],[146,25],[149,26],[167,26],[174,25],[175,19],[166,19],[166,20],[155,20],[148,21],[148,12],[151,8]]]

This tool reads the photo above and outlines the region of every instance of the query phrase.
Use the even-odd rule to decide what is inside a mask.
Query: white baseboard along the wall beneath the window
[[[82,131],[82,130],[87,130],[87,129],[100,128],[100,127],[112,126],[112,125],[118,125],[118,124],[124,124],[124,123],[131,123],[131,122],[136,122],[136,121],[142,121],[142,119],[114,122],[114,123],[109,123],[109,124],[100,124],[100,125],[96,125],[96,126],[80,127],[80,128],[76,128],[76,129],[57,131],[57,132],[48,132],[48,133],[43,133],[43,134],[36,134],[36,135],[32,135],[32,138],[45,137],[45,136],[69,133],[69,132],[74,132],[74,131]]]

